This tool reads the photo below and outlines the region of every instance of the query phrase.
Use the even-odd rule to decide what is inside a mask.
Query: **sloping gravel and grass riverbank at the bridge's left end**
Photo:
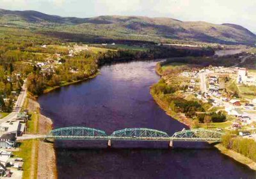
[[[29,133],[48,134],[52,128],[52,121],[50,118],[40,114],[40,104],[30,98],[27,99],[26,109],[32,114],[33,119],[29,123]],[[33,128],[33,130],[32,130]],[[24,143],[26,141],[23,141]],[[23,178],[57,178],[56,155],[54,151],[54,144],[45,143],[40,140],[31,140],[31,159],[29,160],[29,173]],[[28,162],[28,161],[26,161]]]

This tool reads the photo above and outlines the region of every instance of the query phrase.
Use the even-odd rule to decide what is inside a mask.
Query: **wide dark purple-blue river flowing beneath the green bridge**
[[[87,82],[38,99],[54,128],[86,126],[111,134],[145,127],[172,135],[185,126],[167,116],[149,93],[159,80],[155,61],[103,66]],[[256,178],[252,169],[205,143],[58,141],[59,178]]]

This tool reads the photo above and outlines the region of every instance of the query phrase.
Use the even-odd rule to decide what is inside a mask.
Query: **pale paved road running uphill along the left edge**
[[[27,88],[26,88],[26,81],[25,81],[22,86],[22,90],[20,91],[18,100],[17,100],[17,102],[15,102],[15,105],[13,107],[13,112],[10,113],[8,116],[5,116],[3,119],[1,119],[0,123],[3,123],[5,121],[10,121],[10,120],[17,118],[17,114],[20,112],[20,109],[21,109],[22,105],[24,104],[26,96],[27,96]]]

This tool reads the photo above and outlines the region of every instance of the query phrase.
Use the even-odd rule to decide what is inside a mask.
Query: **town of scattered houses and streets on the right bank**
[[[241,130],[241,136],[256,139],[256,98],[251,91],[256,89],[256,72],[239,67],[209,66],[196,70],[184,71],[179,74],[180,85],[187,86],[184,98],[190,97],[210,104],[209,109],[215,113],[223,113],[228,116],[225,128],[217,130]],[[166,77],[168,83],[168,77]],[[240,97],[237,91],[233,95],[228,90],[241,91]],[[250,91],[251,90],[251,91]],[[252,95],[251,95],[252,93]],[[206,112],[205,112],[206,113]],[[228,124],[227,123],[227,124]]]

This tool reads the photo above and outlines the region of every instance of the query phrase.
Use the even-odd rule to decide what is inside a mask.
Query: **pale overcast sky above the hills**
[[[0,8],[68,17],[141,15],[228,22],[256,32],[256,0],[0,0]]]

